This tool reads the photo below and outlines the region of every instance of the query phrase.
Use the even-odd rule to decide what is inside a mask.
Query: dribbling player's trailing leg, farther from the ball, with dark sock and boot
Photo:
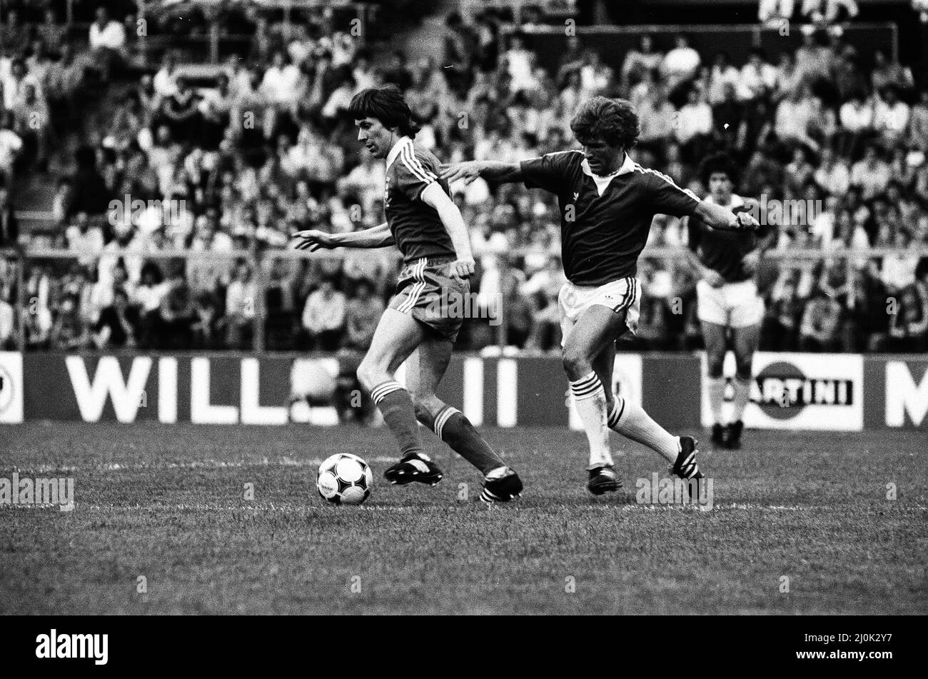
[[[522,480],[490,447],[458,408],[445,404],[435,390],[445,376],[452,344],[426,337],[406,363],[406,384],[412,393],[416,417],[458,455],[480,469],[484,502],[508,502],[522,493]]]

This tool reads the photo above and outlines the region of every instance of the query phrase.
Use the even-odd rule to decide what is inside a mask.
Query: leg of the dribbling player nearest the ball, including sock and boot
[[[380,408],[403,455],[397,464],[384,472],[392,483],[415,480],[434,485],[442,480],[441,469],[422,448],[412,397],[394,377],[396,370],[424,337],[425,331],[419,321],[409,314],[388,308],[380,316],[370,349],[357,368],[357,378]]]

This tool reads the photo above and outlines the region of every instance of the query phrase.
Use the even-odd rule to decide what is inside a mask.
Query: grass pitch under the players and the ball
[[[375,481],[365,506],[326,506],[314,460],[355,453],[379,478],[385,429],[2,427],[0,477],[71,475],[77,504],[0,507],[0,613],[928,612],[923,434],[703,447],[712,511],[638,505],[635,480],[666,470],[634,444],[626,488],[598,499],[582,434],[487,438],[526,483],[513,506],[481,505],[444,446],[439,486]]]

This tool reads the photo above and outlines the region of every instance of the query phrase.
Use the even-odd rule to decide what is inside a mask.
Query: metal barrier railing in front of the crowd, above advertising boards
[[[643,260],[656,260],[664,263],[684,263],[685,250],[682,247],[649,247],[642,254]],[[199,251],[199,250],[135,250],[135,249],[108,249],[99,252],[85,252],[79,250],[60,250],[34,247],[19,247],[16,249],[0,249],[0,287],[5,282],[15,281],[18,291],[15,300],[15,327],[17,333],[16,345],[19,352],[27,351],[26,325],[22,319],[25,314],[30,313],[32,303],[28,297],[27,278],[31,268],[36,263],[58,263],[58,271],[64,274],[70,266],[67,263],[84,263],[91,268],[97,266],[103,258],[116,258],[117,260],[129,258],[135,262],[153,261],[157,263],[167,263],[170,261],[217,261],[227,262],[229,271],[238,262],[248,263],[251,268],[252,280],[255,284],[255,299],[253,300],[253,342],[251,351],[263,353],[266,351],[266,329],[267,329],[267,312],[265,309],[266,292],[268,280],[266,272],[268,265],[274,260],[343,260],[346,252],[344,250],[326,250],[316,252],[306,252],[304,250],[290,249],[261,249],[252,247],[249,250],[232,250],[232,251]],[[512,249],[504,251],[485,251],[478,255],[483,258],[488,255],[495,256],[496,265],[500,269],[501,276],[507,275],[509,267],[514,260],[526,255],[543,255],[552,256],[556,253],[551,250],[537,249]],[[400,264],[399,254],[390,250],[385,256],[382,252],[371,250],[352,250],[352,258],[355,262],[364,262],[369,260],[372,268],[387,263],[394,263],[397,267]],[[776,263],[779,270],[784,265],[791,265],[799,268],[811,268],[820,262],[840,261],[844,263],[847,270],[847,280],[853,280],[854,272],[863,268],[870,260],[881,261],[883,258],[898,258],[905,256],[909,258],[928,258],[928,247],[909,248],[899,250],[896,248],[870,248],[857,250],[821,250],[821,249],[783,249],[767,250],[764,255],[765,265]],[[162,269],[164,267],[162,266]],[[508,320],[509,315],[506,309],[505,297],[501,296],[494,300],[496,303],[496,313],[491,317],[498,319],[497,323],[490,325],[494,329],[495,344],[499,352],[512,350],[507,348],[507,338],[509,335]],[[296,309],[295,314],[300,314],[302,310]]]

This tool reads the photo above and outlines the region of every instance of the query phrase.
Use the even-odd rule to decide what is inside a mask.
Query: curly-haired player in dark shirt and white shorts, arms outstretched
[[[548,153],[522,162],[470,160],[445,169],[448,181],[523,182],[558,197],[561,259],[568,282],[561,288],[562,356],[574,404],[589,442],[587,488],[618,490],[610,429],[643,443],[682,479],[701,479],[696,440],[672,436],[636,404],[612,393],[615,340],[638,326],[635,275],[655,214],[692,216],[717,229],[741,231],[757,223],[749,214],[698,199],[662,173],[628,155],[638,139],[638,116],[623,99],[594,96],[571,121],[582,149]]]

